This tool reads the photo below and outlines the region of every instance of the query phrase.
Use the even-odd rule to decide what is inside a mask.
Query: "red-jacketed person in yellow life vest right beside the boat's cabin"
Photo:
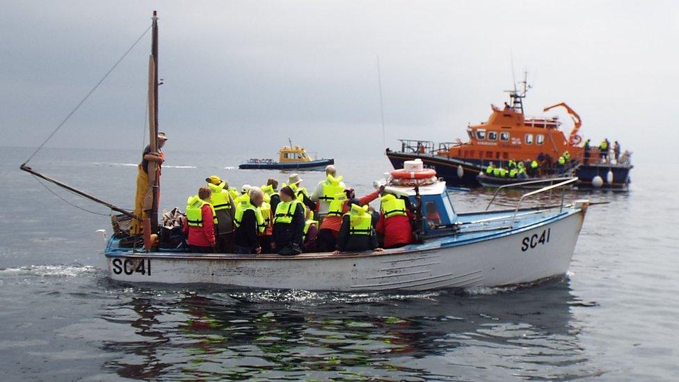
[[[384,248],[397,248],[413,243],[413,212],[406,200],[391,193],[381,199],[380,218],[376,230],[384,237]]]

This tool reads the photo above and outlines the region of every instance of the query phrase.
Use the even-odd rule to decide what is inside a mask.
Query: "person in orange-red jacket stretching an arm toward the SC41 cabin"
[[[380,186],[378,190],[375,190],[362,198],[356,198],[356,192],[353,191],[353,189],[345,189],[344,201],[335,200],[333,204],[339,205],[339,207],[336,210],[333,210],[333,206],[331,205],[328,216],[321,222],[317,239],[319,251],[330,252],[331,250],[337,249],[337,237],[339,237],[340,228],[342,227],[342,215],[349,212],[351,205],[367,205],[369,202],[377,199],[383,192],[384,186]]]

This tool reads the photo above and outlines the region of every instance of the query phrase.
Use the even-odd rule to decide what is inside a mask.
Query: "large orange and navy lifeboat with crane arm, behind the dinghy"
[[[532,161],[541,154],[550,156],[556,162],[559,156],[568,151],[577,163],[576,175],[581,186],[600,184],[593,177],[600,175],[601,169],[595,158],[599,157],[598,148],[585,152],[580,127],[580,116],[566,103],[548,106],[543,111],[556,107],[566,109],[574,126],[566,136],[561,131],[561,121],[552,118],[528,118],[524,114],[523,98],[526,96],[527,80],[522,82],[523,90],[509,91],[510,102],[504,107],[491,105],[491,113],[486,122],[467,127],[468,141],[460,138],[456,142],[434,143],[431,141],[402,139],[400,150],[386,150],[386,155],[394,168],[403,166],[404,161],[422,159],[426,166],[436,168],[450,186],[479,186],[477,175],[488,164],[507,168],[513,161]],[[588,159],[591,158],[591,159]],[[609,166],[610,167],[610,166]],[[630,184],[631,164],[618,164],[612,169],[610,182],[603,177],[599,187],[625,189]]]

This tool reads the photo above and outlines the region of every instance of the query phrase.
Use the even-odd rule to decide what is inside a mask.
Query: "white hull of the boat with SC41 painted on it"
[[[566,273],[583,219],[584,209],[573,208],[518,230],[429,239],[382,253],[107,253],[106,260],[111,278],[125,282],[338,291],[493,287]]]

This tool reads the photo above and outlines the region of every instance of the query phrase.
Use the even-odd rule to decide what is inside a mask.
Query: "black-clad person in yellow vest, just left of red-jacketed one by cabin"
[[[333,254],[364,250],[379,252],[382,248],[379,248],[377,233],[372,226],[372,214],[368,213],[368,206],[351,205],[351,210],[342,216],[340,236],[337,237],[337,250]]]

